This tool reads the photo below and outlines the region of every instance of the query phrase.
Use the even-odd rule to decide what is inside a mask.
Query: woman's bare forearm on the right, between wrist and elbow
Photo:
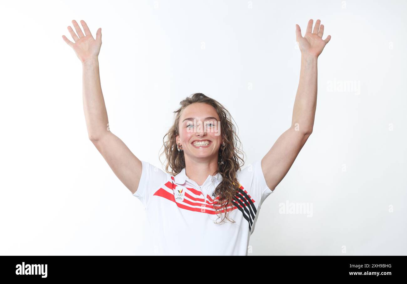
[[[304,134],[311,133],[314,126],[316,107],[317,57],[301,55],[300,82],[295,96],[291,127]]]

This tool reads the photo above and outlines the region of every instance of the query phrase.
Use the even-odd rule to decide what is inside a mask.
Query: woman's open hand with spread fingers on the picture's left
[[[83,27],[83,31],[85,31],[85,35],[83,35],[82,30],[79,27],[79,24],[75,20],[72,20],[72,24],[74,25],[74,28],[77,31],[78,35],[72,30],[70,26],[68,26],[68,31],[71,34],[75,43],[68,40],[68,38],[65,35],[62,36],[62,39],[70,47],[73,48],[77,57],[79,58],[79,60],[81,60],[82,63],[97,58],[102,45],[102,28],[99,28],[96,31],[96,40],[95,40],[92,34],[90,33],[88,25],[85,23],[84,20],[81,20],[81,24]]]

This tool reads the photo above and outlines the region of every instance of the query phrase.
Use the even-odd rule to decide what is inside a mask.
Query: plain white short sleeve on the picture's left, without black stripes
[[[140,176],[140,182],[138,184],[137,191],[133,194],[144,205],[144,209],[147,207],[151,196],[165,185],[168,178],[171,178],[169,174],[163,170],[151,165],[149,162],[141,161],[142,172]]]

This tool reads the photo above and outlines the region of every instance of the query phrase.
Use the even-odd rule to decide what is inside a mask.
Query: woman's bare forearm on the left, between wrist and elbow
[[[107,133],[108,119],[99,75],[98,58],[82,63],[83,111],[89,139],[98,140]]]

